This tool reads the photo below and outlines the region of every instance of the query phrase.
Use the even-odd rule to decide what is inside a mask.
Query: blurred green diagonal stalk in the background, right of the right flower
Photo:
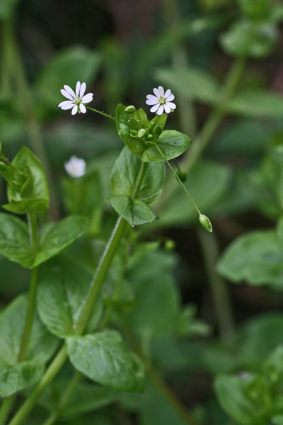
[[[227,103],[233,96],[239,81],[241,80],[245,63],[245,60],[238,58],[233,62],[229,69],[224,86],[220,92],[219,101],[217,101],[216,105],[212,109],[212,112],[210,113],[209,118],[207,118],[200,134],[196,137],[190,149],[187,150],[184,159],[180,161],[180,169],[185,172],[188,173],[190,169],[192,169],[192,166],[196,164],[197,160],[200,159],[202,152],[204,152],[204,149],[207,145],[209,145],[209,142],[212,140],[217,128],[219,128],[221,120],[226,115]],[[156,204],[156,211],[158,213],[160,213],[161,210],[165,208],[169,200],[171,200],[175,189],[175,181],[173,178],[169,177],[163,191],[162,200]]]

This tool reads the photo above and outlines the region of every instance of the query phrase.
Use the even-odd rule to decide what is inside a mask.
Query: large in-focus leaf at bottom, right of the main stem
[[[144,365],[117,331],[69,336],[67,352],[77,370],[101,385],[123,391],[144,389]]]

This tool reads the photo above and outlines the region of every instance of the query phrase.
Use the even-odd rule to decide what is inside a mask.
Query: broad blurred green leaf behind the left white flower
[[[37,96],[45,105],[59,111],[58,103],[64,100],[60,89],[64,88],[64,84],[74,90],[76,81],[80,79],[88,87],[96,77],[100,62],[100,53],[86,47],[72,46],[59,51],[45,65],[35,83]]]

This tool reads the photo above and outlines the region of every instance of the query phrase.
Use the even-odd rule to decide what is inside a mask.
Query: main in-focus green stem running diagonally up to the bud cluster
[[[144,179],[144,174],[146,171],[147,164],[142,162],[141,168],[139,170],[139,174],[137,176],[137,181],[134,186],[133,196],[137,196],[139,188],[141,187],[142,179]],[[91,289],[88,293],[88,298],[86,299],[86,303],[83,306],[83,311],[81,312],[81,317],[79,317],[79,321],[76,327],[76,334],[80,335],[83,333],[83,330],[86,327],[88,319],[93,310],[93,306],[96,303],[96,300],[99,295],[100,288],[103,284],[103,280],[105,279],[106,274],[108,273],[108,269],[114,258],[117,248],[121,242],[121,239],[125,233],[125,229],[127,228],[127,221],[122,217],[119,217],[115,228],[110,236],[109,242],[105,247],[103,255],[101,257],[100,263],[98,264],[98,268],[96,270],[96,274],[91,283]],[[45,391],[46,387],[50,385],[50,382],[55,378],[59,370],[64,365],[67,360],[67,351],[66,346],[64,345],[57,356],[54,358],[49,368],[43,375],[40,382],[34,388],[33,392],[30,393],[29,397],[23,402],[18,412],[13,416],[8,425],[20,425],[26,416],[30,413],[30,411],[35,406],[37,399],[42,395],[42,392]]]

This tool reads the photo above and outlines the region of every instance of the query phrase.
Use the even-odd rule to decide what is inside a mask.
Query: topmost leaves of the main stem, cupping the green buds
[[[154,145],[150,145],[138,137],[133,137],[131,135],[131,128],[129,127],[128,120],[129,118],[140,120],[142,128],[145,129],[148,128],[149,123],[154,123],[155,125],[159,125],[161,130],[163,130],[167,115],[165,113],[156,115],[153,120],[149,121],[143,109],[140,108],[139,111],[129,114],[125,112],[125,108],[126,107],[121,104],[117,106],[117,131],[128,149],[134,155],[141,157],[142,161],[153,162],[173,159],[183,154],[190,146],[190,138],[183,133],[175,130],[162,131],[156,141],[159,149],[161,149],[162,155]]]

